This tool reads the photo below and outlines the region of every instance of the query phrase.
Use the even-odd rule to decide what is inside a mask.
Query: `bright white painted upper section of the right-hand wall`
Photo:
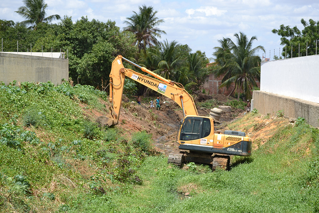
[[[260,90],[319,103],[319,55],[262,63]]]

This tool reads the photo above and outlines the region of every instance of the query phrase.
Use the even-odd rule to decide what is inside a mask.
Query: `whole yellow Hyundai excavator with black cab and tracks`
[[[155,78],[125,68],[122,59]],[[169,154],[168,163],[180,166],[185,162],[195,162],[211,164],[213,169],[228,169],[231,155],[251,155],[252,140],[244,132],[226,130],[224,134],[215,133],[213,118],[198,115],[193,98],[180,83],[167,80],[121,55],[113,61],[110,72],[111,114],[98,117],[101,124],[118,124],[125,77],[170,98],[182,108],[184,117],[177,129],[178,148],[182,151]]]

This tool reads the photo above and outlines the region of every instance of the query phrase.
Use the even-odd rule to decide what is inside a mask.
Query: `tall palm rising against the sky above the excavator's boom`
[[[127,24],[124,31],[131,31],[136,35],[136,44],[141,52],[141,49],[146,51],[147,46],[158,44],[156,37],[160,38],[160,34],[166,34],[166,32],[156,27],[164,22],[163,19],[155,16],[158,11],[154,11],[152,6],[147,7],[146,5],[140,6],[139,9],[139,13],[133,11],[134,15],[126,18],[128,21],[124,21]]]

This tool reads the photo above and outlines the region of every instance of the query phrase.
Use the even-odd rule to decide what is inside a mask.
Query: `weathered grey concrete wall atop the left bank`
[[[0,81],[47,82],[61,84],[69,79],[68,59],[0,52]]]

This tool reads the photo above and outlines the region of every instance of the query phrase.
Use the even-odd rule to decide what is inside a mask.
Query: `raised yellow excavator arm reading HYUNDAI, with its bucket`
[[[142,74],[140,72],[136,72],[132,69],[125,68],[123,66],[122,59],[133,64],[134,66],[139,67],[142,71],[152,75],[155,78]],[[182,108],[184,117],[187,115],[198,115],[193,98],[188,94],[188,92],[183,88],[181,84],[173,82],[171,80],[167,80],[160,75],[148,70],[147,68],[141,67],[134,62],[124,58],[122,55],[118,55],[112,62],[112,68],[110,72],[111,114],[107,117],[100,116],[98,118],[98,121],[100,121],[101,123],[108,126],[118,124],[125,77],[129,77],[176,102]]]

